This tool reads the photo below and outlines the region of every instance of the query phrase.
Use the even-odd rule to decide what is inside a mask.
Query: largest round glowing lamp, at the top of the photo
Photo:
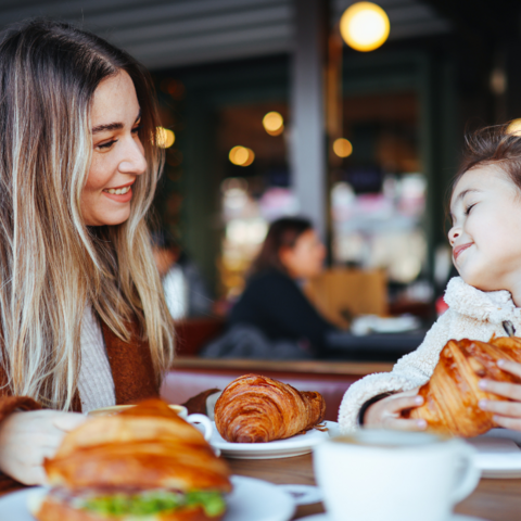
[[[344,41],[361,52],[373,51],[389,37],[391,25],[385,11],[372,2],[357,2],[347,8],[340,18]]]

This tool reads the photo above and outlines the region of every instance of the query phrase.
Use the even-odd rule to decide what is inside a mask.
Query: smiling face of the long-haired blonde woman
[[[92,164],[81,194],[87,226],[114,226],[130,215],[132,185],[147,170],[139,140],[140,109],[130,76],[122,71],[94,91]]]

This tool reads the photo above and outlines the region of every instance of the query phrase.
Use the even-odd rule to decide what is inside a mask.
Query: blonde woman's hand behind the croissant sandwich
[[[65,433],[85,420],[77,412],[13,412],[0,423],[0,470],[25,485],[43,484],[43,458],[54,456]]]

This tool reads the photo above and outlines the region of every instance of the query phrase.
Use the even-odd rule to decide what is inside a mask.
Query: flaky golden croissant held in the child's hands
[[[497,367],[501,358],[521,363],[521,339],[450,340],[440,355],[431,380],[419,390],[423,405],[403,416],[422,418],[429,429],[455,436],[478,436],[498,427],[493,412],[481,410],[478,404],[480,399],[506,398],[482,391],[478,383],[483,378],[521,383],[519,378]]]

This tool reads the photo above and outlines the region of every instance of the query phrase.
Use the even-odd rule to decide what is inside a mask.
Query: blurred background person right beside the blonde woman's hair
[[[171,318],[179,320],[211,315],[212,300],[203,277],[171,233],[166,230],[154,232],[152,252]]]

